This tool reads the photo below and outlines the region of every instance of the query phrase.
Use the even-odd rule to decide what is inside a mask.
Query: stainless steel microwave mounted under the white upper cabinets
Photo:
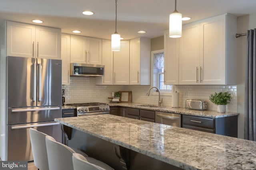
[[[70,63],[70,76],[104,76],[104,65]]]

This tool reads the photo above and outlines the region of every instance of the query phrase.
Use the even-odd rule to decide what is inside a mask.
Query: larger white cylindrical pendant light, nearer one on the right
[[[176,0],[175,0],[175,10],[170,14],[169,20],[169,37],[179,38],[182,34],[182,14],[176,10]]]

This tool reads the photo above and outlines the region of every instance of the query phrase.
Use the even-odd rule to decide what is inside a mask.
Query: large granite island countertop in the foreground
[[[256,142],[115,115],[55,121],[185,170],[255,170]]]

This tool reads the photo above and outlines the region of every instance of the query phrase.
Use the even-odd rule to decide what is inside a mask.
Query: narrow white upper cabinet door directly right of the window
[[[164,31],[164,84],[179,83],[179,39],[170,38]]]

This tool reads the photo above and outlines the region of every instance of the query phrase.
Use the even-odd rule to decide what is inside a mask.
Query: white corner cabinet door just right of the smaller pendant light
[[[130,82],[130,41],[121,41],[120,51],[114,51],[114,85]]]

